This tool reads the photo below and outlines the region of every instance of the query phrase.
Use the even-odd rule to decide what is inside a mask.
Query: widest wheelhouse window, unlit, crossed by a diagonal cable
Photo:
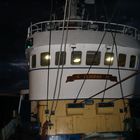
[[[86,65],[99,65],[101,58],[101,52],[87,51]]]

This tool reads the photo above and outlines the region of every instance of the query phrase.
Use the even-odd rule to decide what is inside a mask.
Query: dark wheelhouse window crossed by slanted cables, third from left
[[[66,52],[56,52],[55,54],[55,65],[65,65],[66,63]]]

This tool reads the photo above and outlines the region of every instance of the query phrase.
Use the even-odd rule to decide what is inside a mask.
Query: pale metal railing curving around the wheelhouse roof
[[[43,21],[31,24],[28,28],[28,38],[36,32],[54,31],[54,30],[93,30],[93,31],[107,31],[126,34],[140,40],[140,32],[137,28],[124,24],[109,23],[102,21],[87,21],[87,20],[54,20]],[[64,25],[63,25],[64,24]],[[67,27],[68,24],[68,27]]]

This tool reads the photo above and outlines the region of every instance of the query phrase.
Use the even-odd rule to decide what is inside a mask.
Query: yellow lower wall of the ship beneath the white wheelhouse
[[[112,99],[105,99],[109,102]],[[51,110],[53,101],[48,101],[48,110]],[[80,100],[77,101],[77,103]],[[88,134],[94,132],[121,132],[124,131],[124,120],[130,118],[130,111],[127,107],[124,109],[123,101],[117,100],[114,106],[99,107],[101,99],[94,99],[93,104],[84,105],[83,108],[68,108],[67,104],[73,103],[73,100],[59,100],[54,115],[51,115],[52,125],[45,130],[48,135],[58,134]],[[32,113],[38,112],[41,123],[40,133],[46,120],[49,120],[49,114],[46,114],[47,101],[32,101]],[[56,101],[54,102],[55,105]],[[125,99],[128,104],[128,100]],[[38,108],[38,109],[37,109]],[[37,109],[37,110],[36,110]]]

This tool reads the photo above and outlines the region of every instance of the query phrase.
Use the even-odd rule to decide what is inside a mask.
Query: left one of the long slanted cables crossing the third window
[[[54,107],[54,100],[55,100],[57,84],[58,84],[58,77],[59,77],[59,70],[60,70],[60,58],[61,58],[61,54],[62,54],[62,46],[63,46],[63,40],[64,40],[64,27],[65,27],[65,20],[66,20],[67,3],[68,3],[68,0],[66,0],[66,2],[65,2],[65,10],[64,10],[64,18],[63,18],[63,28],[62,28],[62,40],[61,40],[61,45],[60,45],[60,53],[59,53],[59,58],[58,58],[57,76],[56,76],[56,82],[55,82],[55,88],[54,88],[54,93],[53,93],[53,101],[52,101],[52,105],[51,105],[49,121],[51,119],[51,115],[52,115],[52,111],[53,111],[53,107]]]

